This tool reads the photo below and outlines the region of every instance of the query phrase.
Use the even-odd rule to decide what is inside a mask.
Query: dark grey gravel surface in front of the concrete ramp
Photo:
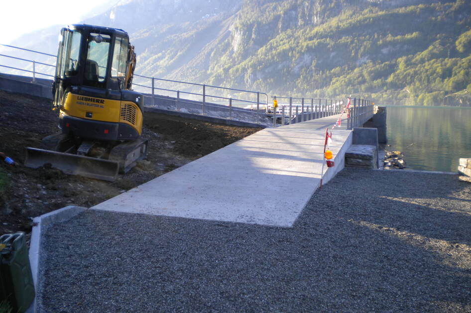
[[[86,211],[51,227],[40,312],[471,312],[471,184],[344,169],[292,228]]]

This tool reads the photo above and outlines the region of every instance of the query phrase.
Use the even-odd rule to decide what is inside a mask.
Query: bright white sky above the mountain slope
[[[118,0],[1,0],[0,44],[52,25],[78,23]]]

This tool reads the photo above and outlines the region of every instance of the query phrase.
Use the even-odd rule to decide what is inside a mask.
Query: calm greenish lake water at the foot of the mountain
[[[387,139],[409,169],[456,172],[471,157],[471,108],[387,106]]]

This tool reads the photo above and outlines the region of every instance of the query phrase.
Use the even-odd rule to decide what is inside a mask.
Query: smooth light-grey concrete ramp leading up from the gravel
[[[339,116],[261,130],[92,209],[291,227],[320,185],[325,130]],[[324,183],[352,142],[342,124]]]

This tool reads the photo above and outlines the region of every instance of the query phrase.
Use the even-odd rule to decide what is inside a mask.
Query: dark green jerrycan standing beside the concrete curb
[[[34,284],[24,233],[2,235],[0,276],[13,312],[25,312],[34,300]]]

